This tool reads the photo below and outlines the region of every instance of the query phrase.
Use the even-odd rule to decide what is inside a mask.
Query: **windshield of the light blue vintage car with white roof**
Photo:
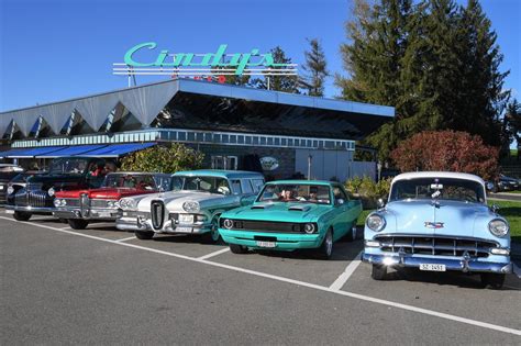
[[[473,180],[418,178],[392,183],[389,201],[433,198],[484,203],[485,191],[479,182]]]

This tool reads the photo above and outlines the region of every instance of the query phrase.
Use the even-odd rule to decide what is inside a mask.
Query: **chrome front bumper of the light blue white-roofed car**
[[[420,265],[444,265],[446,270],[455,270],[462,272],[496,272],[510,274],[512,272],[512,264],[506,257],[505,263],[491,263],[476,260],[469,257],[446,258],[446,257],[423,257],[418,255],[362,255],[362,260],[373,265],[383,265],[393,268],[419,268]]]

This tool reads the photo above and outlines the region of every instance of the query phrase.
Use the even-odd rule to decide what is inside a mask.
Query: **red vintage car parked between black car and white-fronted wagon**
[[[115,221],[121,198],[170,190],[170,177],[167,174],[111,172],[100,188],[57,191],[53,214],[66,219],[75,230],[84,230],[91,221]]]

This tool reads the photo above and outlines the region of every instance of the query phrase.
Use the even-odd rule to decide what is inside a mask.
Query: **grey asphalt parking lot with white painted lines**
[[[3,211],[0,230],[4,345],[521,343],[517,275],[499,291],[450,272],[377,282],[362,241],[324,261]]]

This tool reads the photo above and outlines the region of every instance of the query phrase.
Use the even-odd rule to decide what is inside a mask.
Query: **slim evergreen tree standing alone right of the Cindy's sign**
[[[310,51],[304,52],[306,64],[302,66],[306,75],[300,83],[309,96],[323,97],[325,78],[330,75],[324,51],[318,38],[308,38],[308,42]]]

